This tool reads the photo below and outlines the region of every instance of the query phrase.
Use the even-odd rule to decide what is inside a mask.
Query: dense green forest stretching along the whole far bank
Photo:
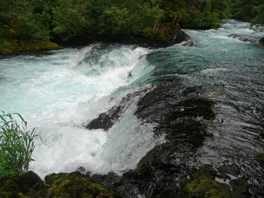
[[[58,48],[76,38],[144,36],[217,28],[236,18],[264,25],[263,0],[0,0],[0,53],[19,46]],[[157,28],[161,26],[162,28]],[[40,47],[39,47],[40,48]]]

